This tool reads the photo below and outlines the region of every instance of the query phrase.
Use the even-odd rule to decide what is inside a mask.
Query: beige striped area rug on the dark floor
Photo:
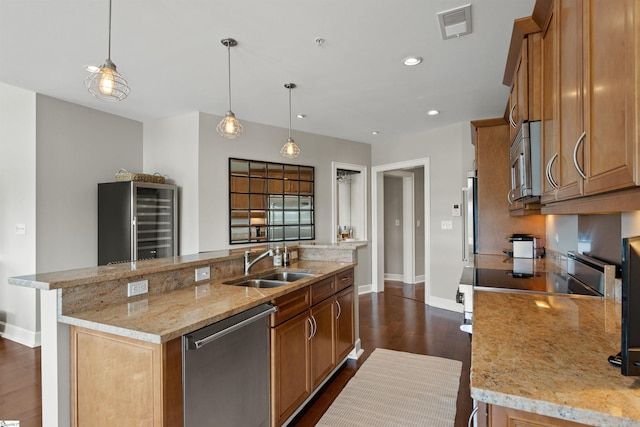
[[[318,426],[455,424],[462,362],[376,348]]]

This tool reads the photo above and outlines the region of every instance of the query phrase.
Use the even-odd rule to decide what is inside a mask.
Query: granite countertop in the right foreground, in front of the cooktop
[[[471,396],[590,425],[640,425],[640,379],[620,351],[612,300],[476,290]]]

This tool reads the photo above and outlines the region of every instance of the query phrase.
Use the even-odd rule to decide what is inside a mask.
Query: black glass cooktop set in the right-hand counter
[[[521,272],[475,268],[473,285],[475,287],[525,292],[602,296],[601,293],[570,275],[552,272]]]

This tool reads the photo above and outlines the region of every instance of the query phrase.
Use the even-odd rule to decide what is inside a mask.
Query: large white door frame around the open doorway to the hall
[[[384,172],[396,169],[424,168],[424,302],[431,294],[431,193],[429,158],[407,160],[371,168],[371,281],[374,292],[384,291]]]

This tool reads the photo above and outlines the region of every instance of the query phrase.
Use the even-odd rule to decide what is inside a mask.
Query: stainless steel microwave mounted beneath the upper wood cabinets
[[[507,198],[531,202],[540,198],[542,187],[540,122],[525,122],[511,143],[509,163],[511,189]]]

